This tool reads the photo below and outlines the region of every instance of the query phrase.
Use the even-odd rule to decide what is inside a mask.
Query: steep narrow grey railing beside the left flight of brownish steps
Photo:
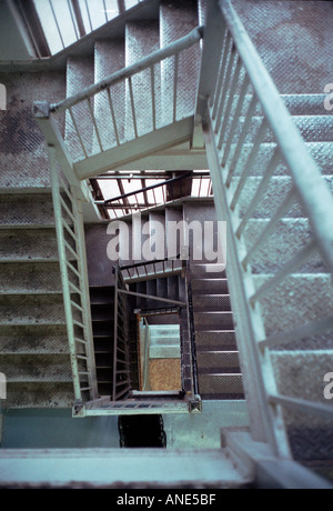
[[[48,151],[67,334],[78,405],[98,397],[82,204],[77,199],[75,189],[58,168],[54,149],[48,148]]]

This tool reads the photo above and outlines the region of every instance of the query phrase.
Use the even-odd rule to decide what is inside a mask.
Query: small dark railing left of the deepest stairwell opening
[[[121,271],[118,264],[114,273],[114,333],[113,333],[113,382],[112,401],[125,400],[131,392],[131,363],[129,347],[129,310]]]

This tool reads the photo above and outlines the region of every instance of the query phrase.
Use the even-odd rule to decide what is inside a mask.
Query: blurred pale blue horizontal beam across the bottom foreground
[[[1,488],[119,489],[119,481],[127,489],[240,488],[249,482],[219,449],[1,449]]]

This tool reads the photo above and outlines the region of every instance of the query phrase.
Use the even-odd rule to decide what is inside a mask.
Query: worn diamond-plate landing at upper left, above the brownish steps
[[[2,74],[8,107],[1,114],[0,188],[6,193],[23,187],[42,190],[51,186],[50,171],[46,142],[32,119],[31,106],[38,99],[50,102],[63,99],[63,71],[18,74],[12,71],[11,68]]]

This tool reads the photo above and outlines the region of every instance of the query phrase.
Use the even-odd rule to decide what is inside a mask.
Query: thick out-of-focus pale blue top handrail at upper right
[[[264,110],[283,158],[291,170],[295,190],[312,223],[314,236],[333,272],[333,197],[304,140],[281,99],[231,0],[219,0],[234,44],[254,92]]]

